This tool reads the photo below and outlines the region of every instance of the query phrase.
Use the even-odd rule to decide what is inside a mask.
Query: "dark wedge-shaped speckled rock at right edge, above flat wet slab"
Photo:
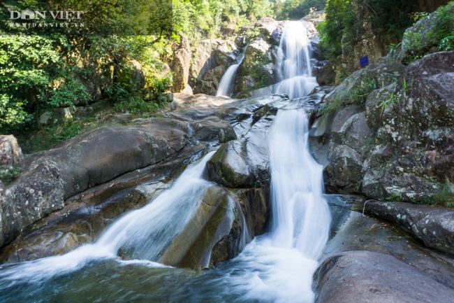
[[[454,255],[454,211],[437,206],[370,201],[367,213],[391,221],[423,241],[425,246]]]

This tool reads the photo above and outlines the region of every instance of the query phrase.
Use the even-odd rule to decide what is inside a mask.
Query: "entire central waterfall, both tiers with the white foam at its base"
[[[316,86],[308,48],[303,24],[288,22],[278,52],[277,92],[304,97]],[[307,115],[294,104],[278,111],[269,133],[270,232],[237,258],[242,273],[233,282],[247,300],[314,302],[312,277],[328,241],[331,216],[322,196],[323,167],[309,152]]]

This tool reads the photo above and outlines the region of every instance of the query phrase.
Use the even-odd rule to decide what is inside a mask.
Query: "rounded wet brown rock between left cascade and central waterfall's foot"
[[[191,268],[212,267],[235,257],[244,246],[242,213],[223,188],[207,188],[184,230],[163,251],[159,262]]]

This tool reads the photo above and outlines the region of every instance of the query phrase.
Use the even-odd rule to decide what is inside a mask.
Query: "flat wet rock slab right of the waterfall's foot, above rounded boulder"
[[[396,225],[363,215],[365,199],[344,195],[325,197],[332,211],[332,232],[322,258],[348,251],[384,253],[454,288],[453,258],[426,248]]]

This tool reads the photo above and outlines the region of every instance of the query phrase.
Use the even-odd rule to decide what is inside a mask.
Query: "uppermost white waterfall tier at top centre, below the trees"
[[[302,22],[288,21],[277,50],[276,69],[279,83],[277,94],[288,94],[291,99],[305,97],[316,87],[309,56],[310,41]]]

